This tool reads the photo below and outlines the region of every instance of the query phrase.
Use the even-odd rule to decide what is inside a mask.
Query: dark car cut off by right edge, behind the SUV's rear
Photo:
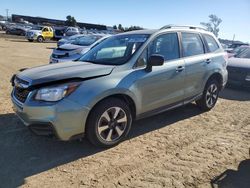
[[[250,88],[250,47],[228,60],[228,84]]]

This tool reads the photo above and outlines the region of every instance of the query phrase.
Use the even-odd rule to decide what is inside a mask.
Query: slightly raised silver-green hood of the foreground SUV
[[[29,85],[39,85],[69,79],[87,79],[105,76],[112,72],[114,66],[97,65],[87,62],[66,62],[50,64],[24,70],[17,77],[29,81]]]

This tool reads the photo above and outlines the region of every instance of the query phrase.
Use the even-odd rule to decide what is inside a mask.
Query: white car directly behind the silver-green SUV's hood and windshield
[[[50,64],[75,61],[91,48],[107,39],[110,35],[87,35],[77,38],[70,44],[64,44],[54,49],[50,56]]]

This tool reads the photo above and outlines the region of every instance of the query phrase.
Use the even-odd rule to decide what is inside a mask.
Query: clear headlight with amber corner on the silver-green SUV
[[[35,100],[48,102],[62,100],[64,97],[75,91],[79,85],[79,83],[69,83],[65,85],[39,89],[35,96]]]

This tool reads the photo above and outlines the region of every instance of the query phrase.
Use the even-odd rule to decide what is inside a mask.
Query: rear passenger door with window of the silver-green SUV
[[[203,83],[210,59],[205,55],[205,45],[202,36],[197,32],[182,32],[182,56],[185,61],[185,99],[203,92]]]

